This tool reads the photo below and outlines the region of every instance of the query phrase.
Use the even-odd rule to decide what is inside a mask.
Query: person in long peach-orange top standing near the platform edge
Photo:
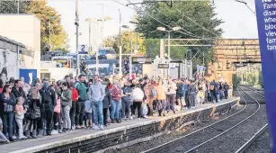
[[[162,79],[159,79],[158,85],[156,86],[156,101],[157,101],[157,110],[159,115],[165,116],[165,111],[166,111],[166,87],[164,85],[164,82]]]

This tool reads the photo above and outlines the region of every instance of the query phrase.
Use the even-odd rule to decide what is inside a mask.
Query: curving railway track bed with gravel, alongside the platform
[[[260,94],[254,94],[244,91],[244,87],[240,87],[241,90],[237,92],[245,100],[245,107],[227,118],[214,122],[209,126],[201,128],[200,130],[195,130],[190,134],[184,135],[178,139],[174,139],[165,144],[157,146],[155,148],[150,148],[148,150],[142,151],[142,153],[151,152],[243,152],[254,140],[253,137],[257,137],[262,133],[265,126],[263,122],[266,121],[266,116],[263,114],[262,106],[257,100],[257,97],[261,97]],[[249,103],[254,104],[249,104]],[[264,113],[265,114],[265,113]],[[256,120],[255,116],[260,120]],[[262,120],[261,120],[262,119]],[[261,130],[246,131],[246,126],[249,123],[259,124],[260,122],[263,126]],[[236,130],[240,130],[245,136],[238,134]],[[245,137],[245,138],[243,138]],[[244,145],[243,145],[244,144]]]

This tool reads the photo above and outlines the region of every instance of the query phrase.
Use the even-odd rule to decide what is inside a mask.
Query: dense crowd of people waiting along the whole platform
[[[33,85],[23,77],[0,79],[0,93],[0,141],[9,142],[77,129],[103,130],[115,122],[218,103],[231,96],[232,85],[204,77],[87,79],[70,74],[57,82],[36,78]]]

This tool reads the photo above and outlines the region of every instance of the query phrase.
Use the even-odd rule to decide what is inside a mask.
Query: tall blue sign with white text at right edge
[[[276,0],[255,0],[272,153],[276,153]]]

